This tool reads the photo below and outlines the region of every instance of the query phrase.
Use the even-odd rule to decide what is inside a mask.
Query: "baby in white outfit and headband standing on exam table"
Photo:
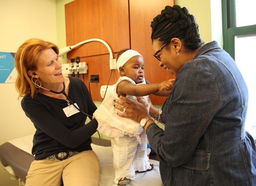
[[[119,117],[117,112],[120,111],[113,107],[115,104],[113,100],[123,95],[137,101],[136,96],[142,96],[149,110],[151,103],[148,94],[159,93],[159,91],[170,93],[173,80],[146,84],[144,59],[135,50],[124,49],[118,53],[117,70],[121,77],[116,84],[109,87],[103,102],[93,116],[98,121],[97,130],[111,137],[115,168],[114,182],[125,185],[135,179],[135,172],[150,171],[154,165],[148,162],[145,130],[140,124],[128,118]]]

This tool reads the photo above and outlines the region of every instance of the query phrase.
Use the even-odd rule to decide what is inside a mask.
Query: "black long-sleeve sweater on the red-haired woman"
[[[85,113],[92,115],[97,109],[84,83],[69,77],[68,97]],[[35,160],[44,159],[60,150],[91,150],[91,135],[96,132],[95,119],[85,125],[86,115],[79,112],[66,117],[63,108],[67,101],[38,93],[33,99],[25,96],[21,107],[34,123],[36,132],[33,139],[32,154]],[[90,118],[91,119],[91,118]]]

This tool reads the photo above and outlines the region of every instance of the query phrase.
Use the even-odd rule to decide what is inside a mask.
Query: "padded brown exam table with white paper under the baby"
[[[19,180],[19,186],[24,186],[26,175],[34,156],[31,154],[33,146],[33,135],[16,138],[0,145],[0,161],[4,169],[11,175],[10,179]],[[115,171],[113,168],[113,153],[111,142],[102,138],[92,137],[92,149],[100,160],[99,186],[117,186],[113,179]],[[162,186],[159,173],[159,158],[150,155],[150,163],[154,163],[154,169],[149,172],[136,173],[135,180],[126,186]]]

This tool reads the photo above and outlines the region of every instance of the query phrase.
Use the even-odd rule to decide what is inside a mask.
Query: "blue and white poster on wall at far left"
[[[12,52],[0,52],[0,83],[14,83],[17,71],[14,68],[14,56]]]

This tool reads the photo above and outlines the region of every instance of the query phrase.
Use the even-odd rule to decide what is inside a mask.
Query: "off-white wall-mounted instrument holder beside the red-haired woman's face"
[[[62,74],[87,74],[88,66],[86,62],[80,62],[79,67],[77,68],[76,65],[73,65],[72,63],[62,64]]]

